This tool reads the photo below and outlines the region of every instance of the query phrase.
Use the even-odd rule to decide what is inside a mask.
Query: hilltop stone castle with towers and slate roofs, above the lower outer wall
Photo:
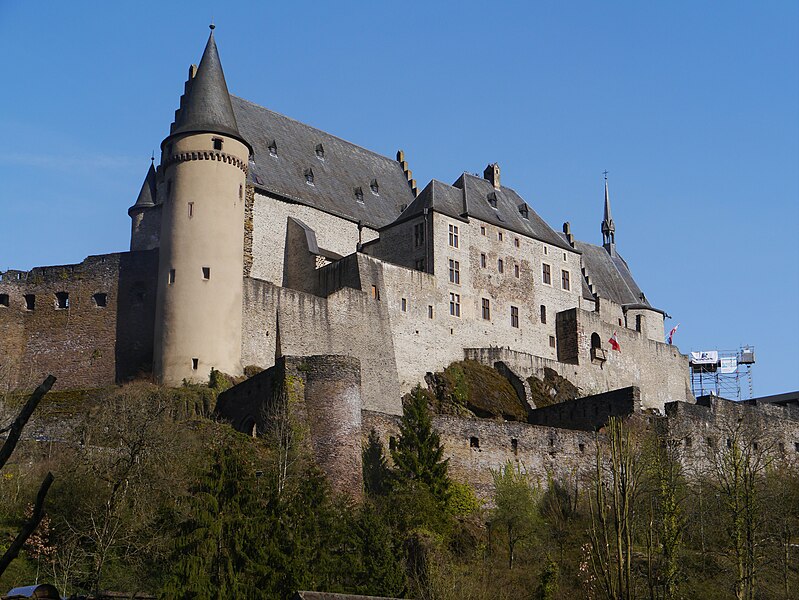
[[[280,356],[357,359],[364,410],[401,412],[425,373],[502,349],[586,395],[693,401],[685,356],[617,251],[545,223],[500,168],[417,190],[387,158],[228,92],[213,27],[158,164],[129,209],[130,251],[0,279],[12,386],[240,375]],[[617,340],[621,351],[609,347]]]

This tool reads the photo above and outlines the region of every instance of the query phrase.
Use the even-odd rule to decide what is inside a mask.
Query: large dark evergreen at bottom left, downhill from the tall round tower
[[[162,597],[252,597],[248,548],[259,537],[253,489],[252,469],[241,453],[229,446],[215,450],[209,472],[193,490]]]

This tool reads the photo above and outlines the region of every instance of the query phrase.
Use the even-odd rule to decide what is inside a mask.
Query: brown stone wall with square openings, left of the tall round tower
[[[157,263],[157,251],[132,252],[3,273],[0,378],[27,388],[52,373],[66,389],[149,372]]]

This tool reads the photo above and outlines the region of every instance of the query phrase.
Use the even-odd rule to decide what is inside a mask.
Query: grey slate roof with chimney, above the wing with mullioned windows
[[[489,202],[489,195],[492,200],[496,199],[496,208]],[[526,207],[527,218],[522,216],[520,207]],[[559,248],[574,250],[513,189],[505,186],[495,189],[486,179],[469,173],[461,175],[452,185],[432,180],[399,220],[421,214],[425,208],[461,220],[474,217]]]

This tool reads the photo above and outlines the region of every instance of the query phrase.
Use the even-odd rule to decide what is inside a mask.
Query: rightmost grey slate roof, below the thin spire
[[[563,236],[565,240],[563,234],[559,235]],[[633,279],[630,267],[618,252],[615,253],[615,256],[611,256],[604,247],[579,240],[575,240],[574,245],[583,255],[584,273],[591,278],[591,284],[600,298],[607,298],[622,306],[659,310],[646,299],[641,288]],[[585,277],[581,277],[581,279],[583,281],[583,297],[593,298]]]

